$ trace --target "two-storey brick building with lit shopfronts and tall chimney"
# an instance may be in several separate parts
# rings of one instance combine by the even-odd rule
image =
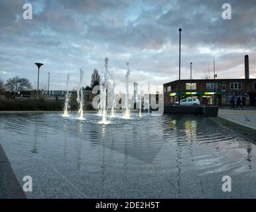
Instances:
[[[178,101],[178,80],[164,83],[164,103]],[[249,60],[245,56],[245,79],[181,79],[180,99],[197,97],[202,105],[229,105],[232,95],[243,105],[256,106],[256,79],[249,79]]]

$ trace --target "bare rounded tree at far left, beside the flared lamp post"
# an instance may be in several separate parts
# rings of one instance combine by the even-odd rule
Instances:
[[[13,97],[16,97],[22,90],[25,91],[32,88],[29,79],[19,78],[18,76],[8,79],[7,83],[5,83],[5,87],[11,91]]]

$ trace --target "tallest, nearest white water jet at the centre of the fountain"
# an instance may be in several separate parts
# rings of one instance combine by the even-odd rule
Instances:
[[[109,78],[109,71],[107,69],[109,58],[105,58],[105,72],[103,72],[103,83],[101,85],[101,111],[102,111],[102,120],[99,121],[99,124],[107,125],[110,122],[107,121],[107,82]]]

